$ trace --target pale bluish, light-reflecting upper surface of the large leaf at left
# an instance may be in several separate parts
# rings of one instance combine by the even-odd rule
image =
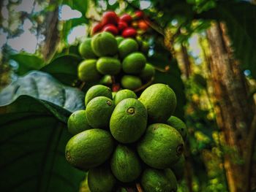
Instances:
[[[84,109],[84,93],[77,88],[62,85],[50,74],[30,72],[12,82],[0,93],[0,106],[10,104],[19,96],[28,95],[36,99],[50,101],[70,112]]]

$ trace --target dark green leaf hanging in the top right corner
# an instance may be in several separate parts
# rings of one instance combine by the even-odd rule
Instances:
[[[215,9],[199,17],[226,23],[236,57],[243,69],[249,69],[256,78],[256,6],[245,1],[221,1]]]

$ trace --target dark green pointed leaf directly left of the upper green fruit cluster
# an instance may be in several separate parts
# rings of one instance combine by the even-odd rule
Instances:
[[[61,55],[54,58],[53,61],[42,69],[42,72],[47,72],[55,77],[60,82],[66,85],[73,85],[78,80],[78,65],[82,59],[77,55]]]

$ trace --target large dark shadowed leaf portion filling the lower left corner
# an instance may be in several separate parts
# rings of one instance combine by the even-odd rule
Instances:
[[[0,191],[78,191],[84,173],[64,155],[69,115],[31,96],[0,107]]]

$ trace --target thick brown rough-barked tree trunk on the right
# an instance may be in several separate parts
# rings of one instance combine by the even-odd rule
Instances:
[[[250,191],[250,175],[246,170],[251,167],[248,167],[250,165],[246,159],[251,160],[248,158],[250,154],[247,149],[254,146],[249,146],[251,144],[248,142],[249,134],[255,129],[251,128],[254,103],[249,100],[246,80],[239,69],[238,61],[233,58],[225,25],[213,23],[207,31],[207,38],[211,50],[209,67],[214,88],[214,110],[223,137],[224,166],[229,190]],[[252,141],[253,138],[254,136]]]

